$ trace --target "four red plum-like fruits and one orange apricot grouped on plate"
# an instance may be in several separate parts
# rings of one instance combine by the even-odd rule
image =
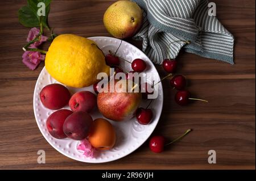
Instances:
[[[93,121],[89,115],[97,104],[96,95],[90,91],[76,92],[71,96],[69,90],[60,84],[48,85],[40,91],[40,100],[44,107],[53,112],[47,119],[47,130],[57,139],[71,138],[84,140],[97,149],[108,150],[115,144],[115,130],[105,119]],[[60,110],[66,105],[71,110]]]

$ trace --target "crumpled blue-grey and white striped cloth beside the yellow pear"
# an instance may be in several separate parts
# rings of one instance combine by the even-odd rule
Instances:
[[[133,1],[144,10],[143,26],[134,39],[143,40],[143,51],[155,64],[176,58],[181,48],[234,64],[234,37],[216,16],[208,15],[207,0]],[[191,44],[173,43],[178,40],[189,40]]]

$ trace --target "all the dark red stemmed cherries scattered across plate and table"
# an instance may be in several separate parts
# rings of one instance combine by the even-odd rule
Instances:
[[[189,43],[188,41],[185,41],[185,43]],[[121,47],[122,41],[118,47],[118,49]],[[123,73],[123,70],[119,67],[120,64],[120,60],[119,57],[116,56],[116,53],[118,52],[118,49],[115,53],[112,53],[111,51],[109,51],[110,53],[108,55],[106,55],[105,57],[105,61],[106,64],[109,66],[112,66],[115,69],[115,73]],[[125,60],[126,62],[129,62],[127,60]],[[133,71],[130,71],[129,73],[141,73],[144,70],[146,70],[147,68],[147,64],[144,60],[137,58],[135,59],[133,62],[129,62],[131,64],[131,68],[133,69]],[[163,69],[169,73],[166,77],[164,77],[163,79],[161,79],[159,82],[163,81],[164,79],[172,76],[176,69],[177,69],[177,61],[176,60],[170,60],[170,59],[166,59],[163,61]],[[126,73],[126,79],[132,79],[130,77],[130,74]],[[133,79],[134,81],[134,79]],[[159,83],[158,82],[158,83]],[[171,78],[170,84],[172,87],[174,87],[174,89],[177,90],[176,94],[175,94],[175,101],[177,104],[181,105],[181,106],[186,106],[189,103],[189,100],[200,100],[200,101],[204,101],[207,102],[207,100],[203,100],[203,99],[195,99],[195,98],[191,98],[191,93],[185,89],[186,86],[186,79],[183,75],[175,75],[174,77]],[[152,92],[149,92],[147,89],[148,87],[152,87],[154,88],[154,85],[148,85],[148,83],[144,83],[143,86],[141,86],[142,89],[142,97],[144,99],[147,98],[147,95],[152,94]],[[98,93],[98,85],[97,83],[93,85],[93,89],[96,93]],[[150,108],[148,108],[150,106],[151,102],[148,104],[148,106],[146,108],[138,108],[138,110],[136,111],[136,118],[138,120],[138,122],[140,124],[143,125],[147,125],[151,122],[152,117],[153,117],[153,113],[152,110]],[[163,151],[164,146],[167,145],[171,145],[174,142],[180,140],[181,138],[183,138],[184,136],[186,136],[189,132],[191,132],[192,129],[188,129],[188,131],[186,131],[182,136],[176,138],[174,141],[166,144],[166,138],[164,138],[163,136],[153,136],[150,139],[150,149],[152,151],[154,151],[155,153],[160,153]]]

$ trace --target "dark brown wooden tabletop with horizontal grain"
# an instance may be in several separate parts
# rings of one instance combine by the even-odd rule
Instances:
[[[110,36],[102,15],[114,1],[54,0],[49,24],[55,32],[80,36]],[[89,164],[57,152],[36,125],[32,98],[35,71],[22,64],[28,28],[18,22],[17,11],[26,1],[0,2],[0,169],[255,169],[255,1],[214,0],[217,16],[236,37],[236,65],[181,52],[179,73],[189,79],[193,95],[209,100],[177,106],[175,90],[163,82],[164,107],[154,134],[175,138],[193,132],[161,154],[143,144],[118,161]],[[134,43],[134,41],[132,42]],[[156,66],[164,76],[162,66]],[[46,164],[37,163],[37,151],[46,151]],[[208,163],[208,150],[216,150],[217,163]]]

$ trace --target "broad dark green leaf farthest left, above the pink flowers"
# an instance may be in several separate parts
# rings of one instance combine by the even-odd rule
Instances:
[[[40,26],[38,17],[28,6],[23,6],[18,11],[19,22],[28,28]]]

